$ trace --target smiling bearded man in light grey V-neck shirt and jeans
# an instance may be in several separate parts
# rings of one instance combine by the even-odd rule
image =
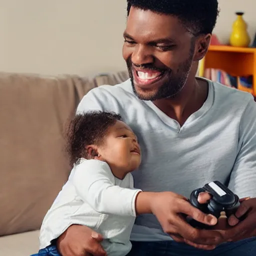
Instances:
[[[195,78],[217,0],[127,0],[127,11],[123,57],[130,79],[92,89],[77,112],[120,113],[142,148],[135,187],[171,191],[154,200],[153,214],[137,216],[128,255],[255,255],[256,105],[248,93]],[[186,199],[212,180],[250,198],[228,225],[199,230],[181,213],[216,223]],[[57,239],[62,256],[105,255],[100,234],[75,224]]]

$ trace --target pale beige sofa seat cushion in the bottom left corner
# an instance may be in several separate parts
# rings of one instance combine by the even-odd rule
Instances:
[[[38,252],[39,230],[0,237],[1,256],[29,256]]]

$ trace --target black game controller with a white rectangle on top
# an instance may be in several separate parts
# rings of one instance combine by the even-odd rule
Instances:
[[[197,201],[200,192],[208,192],[211,195],[211,199],[207,203],[200,204]],[[193,190],[190,194],[190,203],[202,212],[212,214],[216,218],[220,216],[221,211],[225,211],[226,216],[229,217],[240,205],[238,196],[217,180],[205,184],[202,188]],[[190,225],[197,228],[207,229],[209,227],[192,218],[187,220]]]

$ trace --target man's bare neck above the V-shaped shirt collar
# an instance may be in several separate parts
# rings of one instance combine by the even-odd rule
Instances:
[[[187,81],[175,98],[158,99],[153,103],[182,126],[186,119],[202,106],[207,95],[207,82],[193,78],[192,81]]]

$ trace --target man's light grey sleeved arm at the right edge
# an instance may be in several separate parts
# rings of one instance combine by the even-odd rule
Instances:
[[[229,188],[242,197],[256,197],[256,103],[251,99],[241,118],[238,154]]]

